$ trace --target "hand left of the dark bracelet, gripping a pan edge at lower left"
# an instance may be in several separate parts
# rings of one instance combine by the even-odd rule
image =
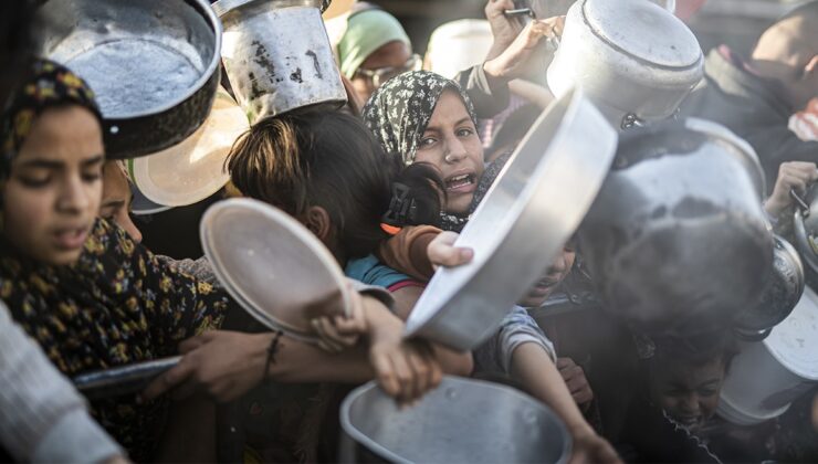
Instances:
[[[179,345],[178,365],[148,384],[141,397],[153,400],[172,390],[175,399],[204,391],[217,401],[232,401],[264,379],[273,334],[213,330]]]

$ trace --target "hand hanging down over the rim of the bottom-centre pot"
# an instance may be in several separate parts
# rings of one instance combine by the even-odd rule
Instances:
[[[367,307],[369,362],[380,388],[400,403],[410,403],[437,387],[443,371],[422,340],[405,340],[403,323],[386,307]]]

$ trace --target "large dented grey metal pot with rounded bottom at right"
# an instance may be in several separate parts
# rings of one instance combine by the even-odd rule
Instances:
[[[773,240],[753,149],[701,119],[620,136],[579,230],[606,309],[647,333],[692,336],[757,304]]]

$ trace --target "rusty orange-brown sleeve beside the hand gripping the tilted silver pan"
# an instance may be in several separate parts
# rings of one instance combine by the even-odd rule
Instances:
[[[441,232],[431,225],[411,225],[400,230],[396,235],[380,244],[378,257],[395,271],[428,282],[434,270],[429,262],[427,249]]]

